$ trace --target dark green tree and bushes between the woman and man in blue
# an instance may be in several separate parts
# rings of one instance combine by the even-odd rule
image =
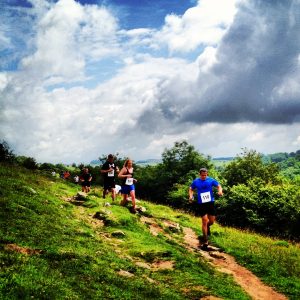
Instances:
[[[209,157],[204,157],[186,141],[175,142],[162,154],[162,163],[137,171],[137,193],[151,201],[185,207],[188,185],[199,174],[200,167],[213,168]]]

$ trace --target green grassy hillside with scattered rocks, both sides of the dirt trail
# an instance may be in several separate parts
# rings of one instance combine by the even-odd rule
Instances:
[[[184,245],[199,218],[141,201],[130,214],[93,188],[0,165],[0,299],[249,299],[233,277]],[[158,231],[151,233],[151,222]],[[154,226],[154,225],[153,225]],[[268,285],[300,298],[300,249],[215,225],[212,242]]]

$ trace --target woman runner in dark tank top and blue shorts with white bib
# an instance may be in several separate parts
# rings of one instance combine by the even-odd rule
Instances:
[[[127,159],[125,161],[124,166],[120,171],[118,177],[122,179],[121,194],[123,195],[123,199],[121,201],[121,205],[125,206],[128,203],[128,195],[130,195],[132,201],[131,212],[135,214],[136,206],[134,183],[137,182],[137,180],[133,178],[133,167],[131,159]]]

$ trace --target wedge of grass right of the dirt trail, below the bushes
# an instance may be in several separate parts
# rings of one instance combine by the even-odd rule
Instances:
[[[299,244],[220,226],[213,240],[266,284],[300,299]]]

